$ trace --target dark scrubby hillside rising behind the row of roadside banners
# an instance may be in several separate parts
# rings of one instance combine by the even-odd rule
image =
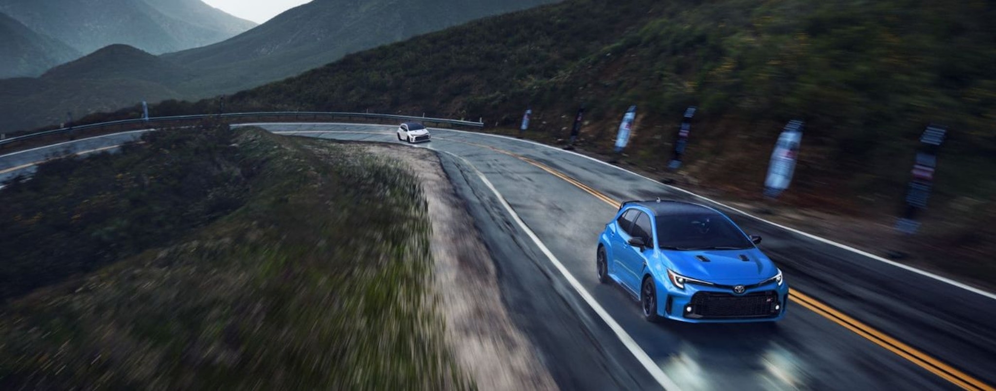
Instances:
[[[663,167],[683,108],[697,104],[686,173],[758,192],[792,118],[807,120],[799,191],[811,204],[897,206],[919,133],[951,126],[938,190],[991,199],[996,40],[989,3],[576,0],[356,54],[240,93],[235,108],[483,116],[566,135],[589,107],[585,147],[606,151],[640,107],[630,161]],[[790,194],[789,197],[792,197]]]

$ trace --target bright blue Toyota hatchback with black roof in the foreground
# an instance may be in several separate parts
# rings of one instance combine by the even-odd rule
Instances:
[[[599,238],[599,281],[632,293],[649,321],[773,321],[782,271],[726,215],[678,201],[629,201]]]

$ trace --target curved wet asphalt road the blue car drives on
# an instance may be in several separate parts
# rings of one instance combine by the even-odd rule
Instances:
[[[258,125],[287,135],[398,142],[388,125]],[[996,384],[992,293],[573,152],[489,134],[432,131],[433,140],[416,147],[438,151],[499,264],[505,301],[564,389],[992,390]],[[58,148],[86,152],[137,134]],[[0,156],[0,180],[30,170],[51,150]],[[793,288],[787,317],[776,327],[650,324],[627,293],[600,285],[594,245],[618,202],[655,197],[716,206],[763,236],[762,250]],[[572,327],[583,328],[587,340],[577,339]],[[594,357],[592,350],[608,358]]]

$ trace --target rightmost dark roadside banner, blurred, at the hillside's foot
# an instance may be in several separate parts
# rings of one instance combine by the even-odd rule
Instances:
[[[915,234],[920,228],[917,214],[927,209],[927,199],[933,188],[934,170],[937,168],[937,151],[947,135],[947,127],[931,124],[920,136],[920,150],[916,153],[912,179],[906,190],[906,205],[902,217],[895,223],[895,229],[904,234]]]

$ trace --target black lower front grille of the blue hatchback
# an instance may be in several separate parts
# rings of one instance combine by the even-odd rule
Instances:
[[[699,292],[691,296],[688,318],[769,317],[781,311],[781,302],[775,291],[745,294]]]

